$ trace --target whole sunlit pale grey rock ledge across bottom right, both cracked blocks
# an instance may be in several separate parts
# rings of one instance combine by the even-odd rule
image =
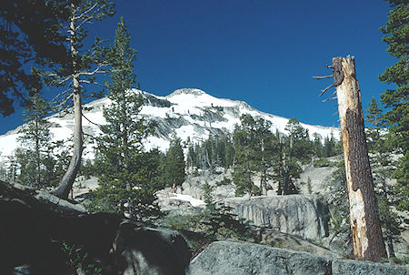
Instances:
[[[408,275],[409,268],[334,260],[245,242],[217,241],[195,257],[187,275]]]

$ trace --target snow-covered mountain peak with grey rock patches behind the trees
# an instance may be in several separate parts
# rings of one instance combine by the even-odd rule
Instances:
[[[240,123],[240,116],[250,114],[254,117],[264,117],[273,124],[273,130],[285,132],[284,127],[288,118],[277,117],[258,111],[243,101],[212,97],[204,91],[195,88],[175,90],[166,97],[157,97],[140,90],[134,90],[145,98],[140,116],[146,121],[156,124],[155,135],[145,140],[145,148],[159,148],[165,150],[169,147],[169,140],[175,134],[178,138],[193,142],[201,142],[209,135],[233,132],[234,125]],[[93,137],[100,134],[98,125],[105,123],[103,107],[109,106],[110,99],[105,97],[85,105],[83,127],[85,136]],[[73,133],[74,117],[72,114],[55,114],[48,118],[52,123],[51,132],[55,140],[69,139]],[[339,128],[312,126],[302,123],[309,130],[310,135],[320,134],[323,138],[330,136],[339,137]],[[12,154],[18,147],[16,138],[20,135],[17,127],[15,130],[0,136],[1,158]],[[93,145],[85,142],[85,158],[93,158]]]

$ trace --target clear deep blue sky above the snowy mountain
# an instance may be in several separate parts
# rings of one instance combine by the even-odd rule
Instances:
[[[388,85],[378,80],[394,57],[379,27],[391,9],[382,0],[117,0],[116,15],[90,36],[113,39],[119,16],[138,51],[141,89],[165,96],[196,87],[214,97],[314,125],[338,127],[336,101],[320,90],[333,79],[334,56],[355,56],[364,108]],[[45,90],[45,93],[47,91]],[[328,93],[327,94],[331,94]],[[21,109],[0,117],[0,134],[22,124]]]

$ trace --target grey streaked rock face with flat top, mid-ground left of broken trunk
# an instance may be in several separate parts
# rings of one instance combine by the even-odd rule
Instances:
[[[238,218],[249,220],[258,227],[304,239],[328,236],[328,207],[315,196],[242,197],[224,199],[224,202]]]

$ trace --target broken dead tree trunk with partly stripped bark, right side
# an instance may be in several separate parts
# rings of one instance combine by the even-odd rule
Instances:
[[[333,58],[333,69],[344,146],[354,255],[358,259],[379,260],[386,257],[386,250],[374,197],[354,57]]]

